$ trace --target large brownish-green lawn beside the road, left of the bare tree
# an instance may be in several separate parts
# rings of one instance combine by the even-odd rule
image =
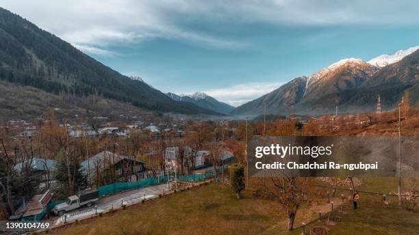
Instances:
[[[227,186],[210,184],[162,197],[58,234],[259,234],[284,220],[277,202],[243,199]]]

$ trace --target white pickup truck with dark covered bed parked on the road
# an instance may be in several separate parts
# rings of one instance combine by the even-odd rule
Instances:
[[[93,202],[99,199],[99,191],[97,189],[91,189],[83,191],[78,195],[70,196],[66,199],[66,202],[54,206],[53,212],[55,215],[64,215],[65,212],[75,210],[81,206],[90,207]]]

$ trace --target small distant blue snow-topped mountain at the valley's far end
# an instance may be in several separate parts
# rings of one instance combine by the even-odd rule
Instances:
[[[195,92],[191,95],[177,95],[169,92],[166,94],[166,96],[178,102],[192,102],[193,104],[198,105],[199,107],[210,109],[218,113],[227,114],[234,109],[234,107],[232,107],[231,105],[228,105],[225,102],[220,102],[203,92]]]

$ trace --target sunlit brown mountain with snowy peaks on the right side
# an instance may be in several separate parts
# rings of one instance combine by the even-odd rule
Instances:
[[[366,62],[342,59],[309,77],[285,85],[231,111],[231,115],[266,113],[320,115],[374,111],[381,96],[383,109],[394,109],[405,91],[419,100],[419,46]]]

